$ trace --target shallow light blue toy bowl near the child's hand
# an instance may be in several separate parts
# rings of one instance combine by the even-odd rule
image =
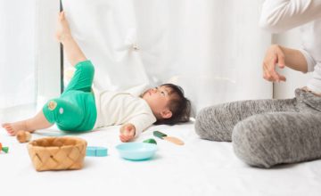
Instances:
[[[121,143],[116,146],[120,157],[130,160],[151,159],[157,151],[153,143]]]

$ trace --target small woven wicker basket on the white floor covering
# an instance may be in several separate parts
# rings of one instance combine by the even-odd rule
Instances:
[[[86,141],[77,137],[46,137],[28,144],[37,171],[80,169],[86,155]]]

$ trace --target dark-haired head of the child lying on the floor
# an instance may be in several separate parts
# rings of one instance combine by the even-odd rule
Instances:
[[[191,102],[185,98],[180,86],[164,84],[151,88],[142,94],[142,98],[157,118],[156,124],[174,125],[189,120]]]

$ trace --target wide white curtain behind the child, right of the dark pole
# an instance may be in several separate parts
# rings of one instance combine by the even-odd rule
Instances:
[[[65,0],[63,7],[74,37],[95,63],[96,87],[172,81],[200,110],[272,97],[272,84],[261,77],[271,43],[258,26],[261,2]]]

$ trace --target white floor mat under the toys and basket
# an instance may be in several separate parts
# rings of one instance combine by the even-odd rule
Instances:
[[[185,141],[178,146],[152,136],[153,130]],[[62,135],[38,131],[33,139]],[[235,157],[231,143],[199,139],[193,124],[151,127],[136,142],[155,138],[159,151],[151,160],[119,158],[119,127],[82,135],[88,145],[106,146],[107,157],[86,157],[85,167],[73,171],[37,172],[26,143],[0,130],[0,195],[321,195],[321,160],[260,169]]]

